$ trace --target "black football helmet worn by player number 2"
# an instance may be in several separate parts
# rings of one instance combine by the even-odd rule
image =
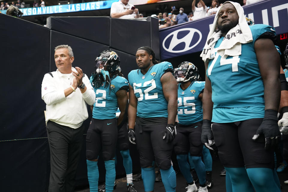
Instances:
[[[120,65],[120,58],[116,52],[112,50],[105,50],[95,60],[95,69],[103,68],[109,72],[118,70]]]

